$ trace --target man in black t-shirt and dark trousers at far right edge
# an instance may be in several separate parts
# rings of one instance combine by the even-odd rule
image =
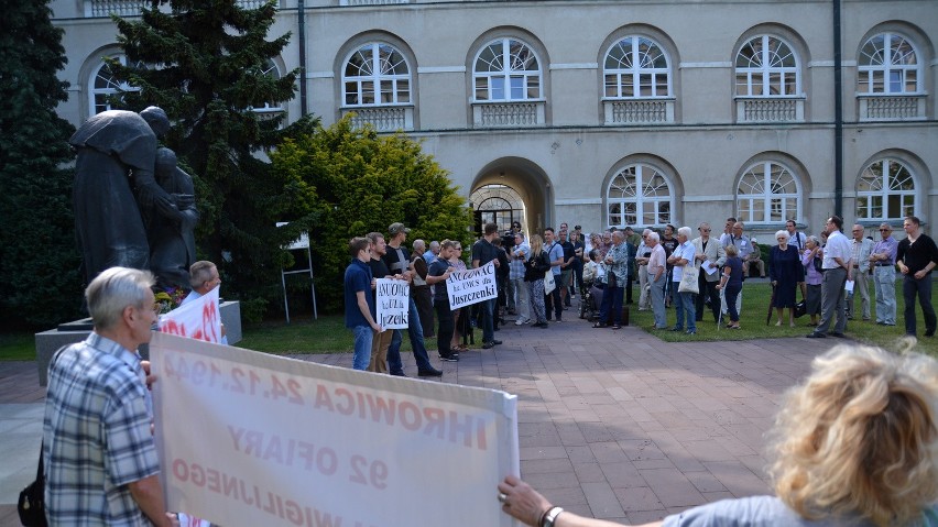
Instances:
[[[915,297],[925,317],[925,336],[935,336],[935,306],[931,305],[931,270],[938,265],[935,240],[921,233],[921,221],[908,216],[903,221],[907,238],[898,243],[896,265],[905,276],[902,285],[905,298],[905,332],[915,337]]]

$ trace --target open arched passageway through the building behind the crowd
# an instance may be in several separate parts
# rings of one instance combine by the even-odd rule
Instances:
[[[479,172],[469,201],[477,231],[493,221],[504,232],[517,221],[530,233],[550,224],[553,197],[550,180],[539,166],[521,157],[502,157]]]

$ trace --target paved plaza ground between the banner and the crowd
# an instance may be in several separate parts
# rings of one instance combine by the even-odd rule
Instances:
[[[510,323],[497,333],[504,344],[443,363],[443,382],[517,394],[524,479],[569,510],[632,524],[768,492],[762,435],[779,394],[837,343],[668,343],[570,318],[546,330]],[[405,364],[415,375],[413,358]],[[43,399],[35,363],[0,363],[0,526],[19,525],[11,504],[35,476]]]

